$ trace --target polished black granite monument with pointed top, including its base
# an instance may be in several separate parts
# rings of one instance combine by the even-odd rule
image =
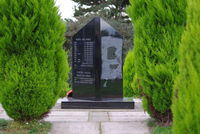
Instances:
[[[123,99],[121,35],[95,17],[72,38],[73,98],[62,108],[134,108]]]

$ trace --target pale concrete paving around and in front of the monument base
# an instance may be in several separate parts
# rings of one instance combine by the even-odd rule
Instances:
[[[134,101],[135,109],[61,109],[58,100],[44,120],[53,123],[49,134],[150,134],[150,117]],[[0,118],[10,119],[1,106]]]

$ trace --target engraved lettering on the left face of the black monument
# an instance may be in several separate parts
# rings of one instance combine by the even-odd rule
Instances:
[[[73,81],[76,84],[94,84],[94,41],[90,38],[76,38],[73,42]]]

